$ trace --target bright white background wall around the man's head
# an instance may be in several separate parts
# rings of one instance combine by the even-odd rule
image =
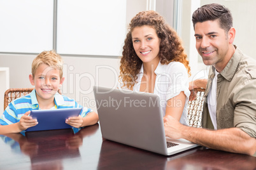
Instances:
[[[256,46],[256,1],[254,0],[183,0],[181,13],[181,39],[188,54],[192,76],[190,80],[207,77],[209,66],[204,65],[201,56],[196,51],[196,39],[192,28],[192,13],[204,4],[223,4],[231,10],[233,27],[236,29],[234,44],[246,55],[254,55],[253,48]],[[188,31],[190,30],[190,31]]]

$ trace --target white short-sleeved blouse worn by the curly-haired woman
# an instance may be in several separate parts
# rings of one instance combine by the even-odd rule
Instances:
[[[155,88],[153,94],[159,95],[160,107],[162,110],[163,117],[166,114],[167,100],[175,96],[178,96],[181,91],[184,91],[186,95],[186,101],[185,106],[183,108],[183,113],[180,118],[180,123],[188,126],[187,103],[190,91],[188,89],[187,69],[185,68],[183,63],[180,62],[171,62],[167,65],[162,65],[159,62],[159,65],[157,65],[157,69],[155,69],[155,74],[157,75],[157,77],[155,79]],[[134,91],[139,91],[142,77],[143,64],[138,74],[138,79],[136,79],[137,83],[134,84]],[[179,105],[178,101],[174,104]]]

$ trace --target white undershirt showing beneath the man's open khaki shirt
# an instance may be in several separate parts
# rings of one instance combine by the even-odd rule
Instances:
[[[216,108],[217,108],[217,79],[218,79],[217,70],[215,69],[215,77],[213,78],[213,82],[211,84],[210,91],[208,93],[208,108],[209,108],[209,114],[211,117],[211,122],[213,123],[213,127],[215,130],[217,130],[217,119],[216,119]]]

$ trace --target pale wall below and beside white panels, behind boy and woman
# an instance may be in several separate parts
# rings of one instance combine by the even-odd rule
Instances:
[[[139,11],[146,10],[146,0],[128,0],[126,23]],[[110,35],[111,37],[111,35]],[[107,44],[107,43],[106,43]],[[32,88],[29,82],[32,60],[36,55],[0,53],[0,67],[10,68],[10,88]],[[92,86],[115,86],[118,80],[120,58],[117,56],[62,56],[65,81],[63,95],[75,98],[85,107],[96,110]],[[1,83],[1,82],[0,82]],[[4,97],[4,94],[0,94]],[[3,103],[0,103],[3,105]],[[2,113],[2,110],[0,110]]]

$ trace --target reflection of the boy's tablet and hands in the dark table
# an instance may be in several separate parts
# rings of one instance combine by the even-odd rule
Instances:
[[[74,135],[73,129],[26,132],[25,138],[27,140],[20,143],[20,149],[30,156],[31,164],[80,157],[78,147],[83,143],[80,136]]]

